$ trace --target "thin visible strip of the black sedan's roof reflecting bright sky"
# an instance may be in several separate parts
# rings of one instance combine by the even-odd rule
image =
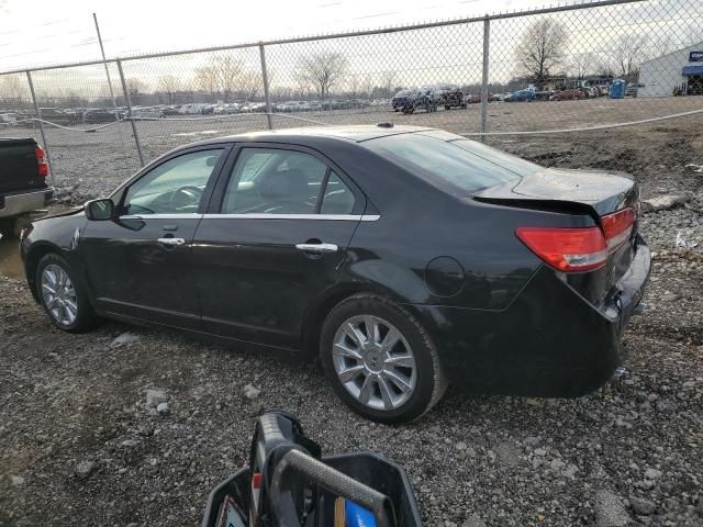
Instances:
[[[261,143],[292,143],[305,144],[308,142],[327,138],[352,143],[376,139],[389,135],[412,134],[415,132],[427,132],[435,128],[425,126],[378,126],[371,124],[346,125],[346,126],[310,126],[304,128],[282,128],[274,131],[252,132],[247,134],[228,135],[198,142],[198,145],[208,145],[231,142],[261,142]]]

